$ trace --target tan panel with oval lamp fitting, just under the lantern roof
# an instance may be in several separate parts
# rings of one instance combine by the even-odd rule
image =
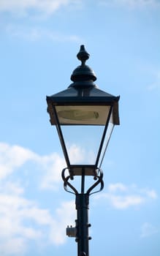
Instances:
[[[110,106],[56,106],[60,124],[105,125]]]

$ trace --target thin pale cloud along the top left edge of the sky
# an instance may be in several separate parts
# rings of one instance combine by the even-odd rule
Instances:
[[[1,0],[0,12],[27,15],[30,11],[50,15],[61,7],[80,5],[80,0]]]

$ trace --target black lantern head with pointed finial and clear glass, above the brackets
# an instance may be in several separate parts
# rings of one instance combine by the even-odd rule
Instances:
[[[119,97],[98,89],[98,86],[94,83],[96,80],[94,71],[85,64],[85,61],[89,59],[89,54],[84,45],[80,46],[77,59],[81,61],[81,64],[72,72],[71,80],[73,83],[66,90],[50,97],[47,96],[47,112],[50,114],[50,123],[56,125],[58,130],[69,170],[72,170],[75,173],[74,175],[80,175],[77,173],[81,173],[80,170],[85,168],[87,175],[94,175],[96,168],[102,164],[113,127],[119,124]],[[102,129],[100,138],[99,127]],[[68,129],[70,134],[65,132],[65,129]],[[76,129],[77,132],[75,132]],[[88,137],[85,137],[86,131],[89,133]],[[69,135],[70,138],[66,139],[66,135]],[[75,141],[73,140],[74,135]],[[89,140],[91,135],[92,138]],[[77,138],[80,139],[80,145],[76,142]],[[91,160],[93,162],[89,165],[87,162],[77,164],[73,161],[72,163],[73,152],[70,152],[69,147],[72,145],[81,147],[83,140],[88,140],[88,146],[92,147],[96,138],[99,138],[99,142],[96,143],[97,148],[94,153],[96,156]],[[85,141],[83,146],[86,146]],[[87,151],[89,150],[88,146]],[[88,169],[86,166],[89,166]]]

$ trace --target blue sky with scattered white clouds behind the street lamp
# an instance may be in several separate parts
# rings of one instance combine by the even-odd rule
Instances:
[[[0,1],[1,255],[77,255],[45,98],[69,86],[85,45],[99,89],[121,96],[104,189],[90,197],[90,255],[159,256],[159,13],[159,0]]]

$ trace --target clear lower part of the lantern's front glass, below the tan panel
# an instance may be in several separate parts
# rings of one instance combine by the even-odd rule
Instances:
[[[71,165],[95,165],[104,126],[61,126]]]

